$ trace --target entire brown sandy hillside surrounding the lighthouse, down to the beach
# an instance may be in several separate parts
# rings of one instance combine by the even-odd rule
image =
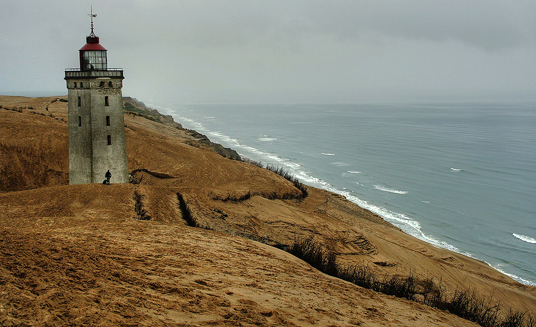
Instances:
[[[252,241],[284,246],[311,235],[340,263],[411,271],[536,314],[534,287],[416,240],[339,195],[309,187],[303,200],[282,199],[301,191],[143,115],[125,114],[129,169],[145,170],[135,173],[142,184],[66,185],[67,104],[55,99],[0,96],[4,324],[472,325]],[[151,220],[134,219],[135,191]],[[213,231],[185,225],[177,193]]]

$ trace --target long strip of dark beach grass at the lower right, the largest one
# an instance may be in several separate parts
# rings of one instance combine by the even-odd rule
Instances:
[[[483,327],[536,327],[536,317],[512,311],[511,308],[506,314],[502,314],[500,303],[496,303],[491,297],[486,300],[475,291],[456,291],[449,297],[445,295],[441,285],[434,287],[431,278],[421,283],[411,273],[407,277],[395,274],[380,278],[368,265],[341,266],[333,252],[324,250],[314,242],[312,236],[304,240],[294,240],[294,244],[286,251],[330,276],[376,292],[446,310]]]

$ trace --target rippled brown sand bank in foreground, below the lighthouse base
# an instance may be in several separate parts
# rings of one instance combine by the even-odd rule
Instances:
[[[94,184],[0,195],[2,212],[13,213],[0,222],[0,323],[473,325],[331,278],[261,243],[132,219],[135,189]]]

